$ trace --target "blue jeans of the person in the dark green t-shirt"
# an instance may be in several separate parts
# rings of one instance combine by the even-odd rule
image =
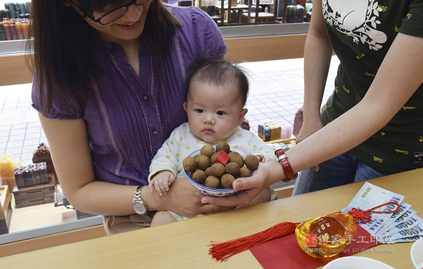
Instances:
[[[385,176],[345,152],[319,164],[319,171],[308,168],[299,173],[292,196]]]

